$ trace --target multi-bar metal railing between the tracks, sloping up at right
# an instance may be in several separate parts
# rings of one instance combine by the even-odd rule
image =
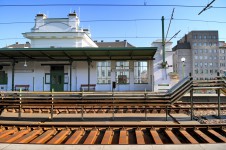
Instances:
[[[208,84],[209,83],[209,84]],[[23,104],[32,105],[42,103],[48,105],[51,98],[54,98],[54,104],[101,104],[111,105],[112,98],[115,104],[139,104],[139,105],[171,105],[179,100],[184,94],[194,88],[211,88],[226,89],[226,80],[216,78],[216,80],[194,81],[191,76],[187,76],[172,86],[166,93],[156,92],[3,92],[0,91],[1,102],[7,105],[18,105],[19,99],[22,99]],[[80,100],[83,99],[81,102]],[[3,105],[3,103],[1,104]]]

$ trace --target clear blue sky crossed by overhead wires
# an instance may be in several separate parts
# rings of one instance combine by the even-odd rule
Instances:
[[[191,30],[218,30],[219,40],[226,40],[226,8],[211,8],[201,15],[200,7],[150,7],[148,5],[191,5],[206,6],[212,0],[0,0],[0,47],[29,41],[23,38],[23,32],[29,32],[37,13],[45,13],[49,18],[66,18],[70,11],[79,13],[80,26],[90,28],[93,40],[115,41],[128,40],[138,47],[150,46],[151,42],[161,38],[161,17],[171,17],[173,8],[174,20],[172,20],[168,37],[172,37],[181,30],[176,41]],[[2,5],[32,5],[32,4],[122,4],[146,6],[34,6],[34,7],[2,7]],[[226,0],[216,0],[214,7],[226,7]],[[137,20],[136,20],[137,19]],[[159,19],[159,20],[139,20]],[[213,22],[181,21],[177,19],[192,19]],[[134,21],[92,21],[92,20],[134,20]],[[136,20],[136,21],[135,21]],[[90,21],[90,22],[86,22]],[[3,24],[12,23],[12,24]],[[169,20],[165,21],[165,33]],[[144,37],[144,38],[142,38]],[[16,38],[16,39],[15,39]]]

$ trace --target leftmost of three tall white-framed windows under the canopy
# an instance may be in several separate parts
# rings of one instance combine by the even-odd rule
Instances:
[[[97,83],[98,84],[111,83],[111,62],[110,61],[97,62]]]

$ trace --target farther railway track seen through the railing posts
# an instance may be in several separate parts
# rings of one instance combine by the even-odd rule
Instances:
[[[216,115],[218,106],[216,103],[195,103],[194,104],[194,115]],[[50,113],[51,106],[23,106],[21,108],[22,113]],[[83,113],[165,113],[165,107],[160,106],[55,106],[53,108],[54,114],[65,113],[65,114],[81,114]],[[176,103],[169,107],[169,113],[190,113],[189,103]],[[19,112],[19,108],[16,106],[7,106],[3,109],[3,112]],[[226,114],[226,104],[221,104],[221,114]]]

